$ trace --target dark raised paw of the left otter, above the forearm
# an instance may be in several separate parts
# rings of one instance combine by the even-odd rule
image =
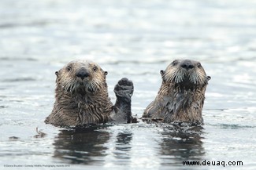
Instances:
[[[113,91],[116,93],[117,97],[119,96],[131,99],[133,94],[133,83],[132,81],[129,81],[128,78],[122,78],[117,82]]]

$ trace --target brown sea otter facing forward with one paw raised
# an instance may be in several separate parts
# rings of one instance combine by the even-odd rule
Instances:
[[[106,71],[88,60],[71,61],[56,71],[55,103],[45,122],[61,127],[130,123],[133,83],[122,78],[115,86],[115,105],[111,103]]]

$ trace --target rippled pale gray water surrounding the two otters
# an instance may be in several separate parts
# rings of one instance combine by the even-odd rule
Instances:
[[[1,0],[0,169],[255,169],[255,44],[254,0]],[[113,102],[117,81],[132,79],[140,118],[159,71],[179,58],[201,61],[212,77],[199,129],[139,122],[71,131],[43,122],[54,72],[70,60],[108,71]]]

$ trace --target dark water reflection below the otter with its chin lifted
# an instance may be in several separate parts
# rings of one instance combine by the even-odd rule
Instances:
[[[161,157],[163,165],[182,165],[182,161],[200,161],[205,154],[202,147],[202,127],[165,127],[162,132]]]

